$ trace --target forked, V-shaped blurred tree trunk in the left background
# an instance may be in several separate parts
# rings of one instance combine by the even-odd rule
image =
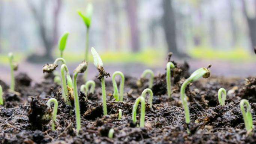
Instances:
[[[48,0],[40,0],[39,6],[36,6],[33,4],[31,0],[27,0],[28,6],[34,16],[35,21],[37,22],[38,29],[39,29],[39,37],[42,41],[42,44],[45,48],[45,54],[42,56],[42,59],[40,59],[36,55],[30,56],[30,61],[43,61],[46,60],[52,60],[52,49],[58,42],[58,18],[59,13],[61,9],[61,0],[53,0],[51,1],[54,6],[54,9],[52,10],[52,17],[51,21],[52,24],[50,25],[50,28],[48,28],[48,25],[46,21],[46,10],[49,10],[46,7],[46,4],[48,3]]]

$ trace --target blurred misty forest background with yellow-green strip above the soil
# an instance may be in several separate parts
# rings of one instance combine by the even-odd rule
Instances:
[[[40,81],[42,65],[60,56],[65,31],[64,58],[72,71],[85,51],[86,27],[76,10],[85,13],[89,2],[89,46],[110,73],[163,73],[173,52],[172,59],[187,61],[191,70],[212,64],[213,75],[255,74],[256,0],[0,0],[0,79],[10,80],[7,54],[13,52],[18,71]],[[97,73],[90,64],[89,77]]]

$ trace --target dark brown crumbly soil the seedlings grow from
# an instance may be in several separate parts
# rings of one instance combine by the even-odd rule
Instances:
[[[0,106],[1,144],[247,144],[256,143],[256,129],[247,133],[240,111],[241,99],[248,99],[256,123],[256,77],[226,78],[210,76],[190,83],[186,88],[191,123],[186,125],[185,114],[180,102],[180,87],[189,77],[189,65],[173,62],[171,70],[172,96],[167,96],[166,74],[155,76],[152,87],[153,106],[146,104],[144,128],[132,123],[132,106],[148,80],[125,76],[124,102],[113,98],[110,78],[106,78],[107,111],[103,116],[101,83],[95,77],[93,94],[79,91],[81,130],[76,134],[74,104],[66,105],[61,96],[61,86],[53,82],[52,74],[45,74],[42,83],[34,83],[27,74],[15,78],[15,92],[0,80],[4,91],[4,105]],[[77,87],[82,85],[82,74],[77,78]],[[118,82],[119,85],[119,82]],[[220,106],[217,98],[219,88],[227,91],[227,100]],[[47,107],[49,98],[58,100],[56,131],[51,130],[52,108]],[[147,100],[148,96],[146,96]],[[53,106],[53,105],[52,105]],[[118,119],[118,110],[122,118]],[[113,138],[108,138],[113,128]],[[188,134],[187,129],[191,132]]]

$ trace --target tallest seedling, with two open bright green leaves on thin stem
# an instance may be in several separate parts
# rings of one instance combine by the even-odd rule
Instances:
[[[93,6],[91,3],[89,3],[86,7],[86,13],[85,15],[82,14],[80,10],[77,10],[77,13],[81,16],[83,19],[83,22],[85,23],[86,26],[86,40],[85,40],[85,61],[89,61],[89,28],[91,25],[91,19],[92,19],[92,12],[93,12]],[[87,71],[85,71],[84,79],[87,79]]]

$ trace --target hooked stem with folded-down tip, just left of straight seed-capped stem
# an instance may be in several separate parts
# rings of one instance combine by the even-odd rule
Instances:
[[[71,105],[70,99],[68,98],[68,89],[67,89],[67,83],[65,79],[65,72],[66,72],[66,78],[67,83],[70,88],[73,88],[72,79],[70,77],[67,65],[63,64],[61,65],[61,82],[62,82],[62,88],[64,95],[62,95],[65,102],[67,102],[68,105]]]

